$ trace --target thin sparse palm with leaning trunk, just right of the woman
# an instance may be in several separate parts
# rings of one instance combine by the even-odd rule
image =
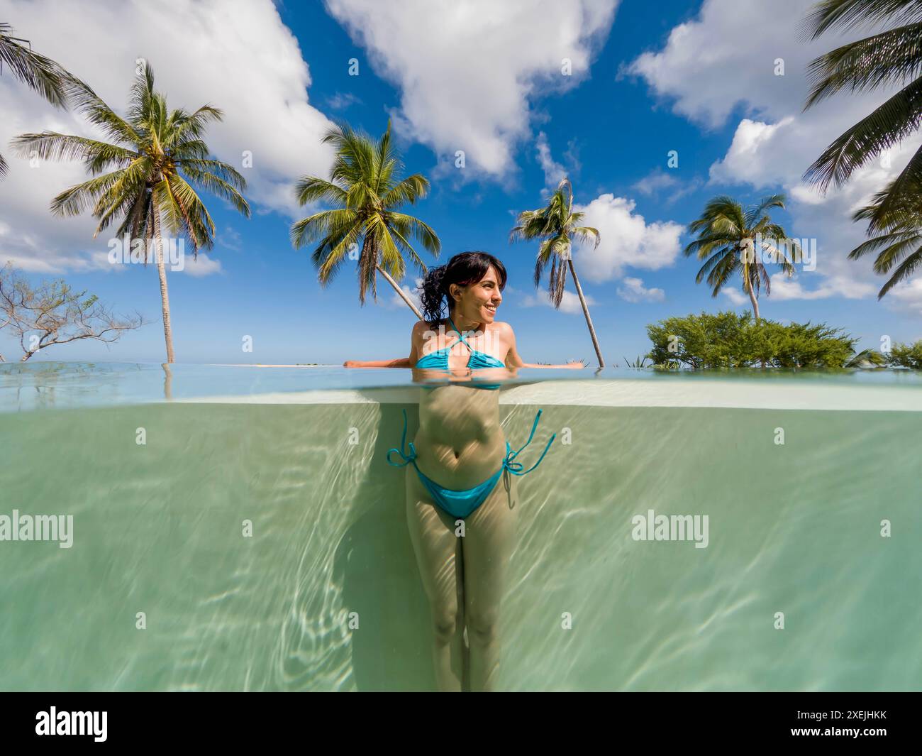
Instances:
[[[509,243],[512,244],[516,240],[541,240],[538,246],[538,258],[535,260],[535,288],[540,285],[544,269],[550,264],[548,293],[550,302],[556,309],[560,309],[563,290],[567,282],[567,267],[570,269],[576,294],[583,306],[585,322],[589,327],[589,336],[592,338],[592,345],[596,348],[598,366],[605,367],[602,350],[598,346],[596,329],[592,325],[592,318],[589,317],[589,307],[585,304],[583,287],[579,285],[579,277],[573,267],[573,256],[570,254],[573,239],[582,242],[588,242],[590,238],[595,239],[596,247],[601,241],[597,229],[580,225],[584,215],[585,213],[582,212],[573,212],[573,185],[569,178],[564,178],[550,196],[547,206],[539,210],[524,210],[519,213],[515,221],[516,225],[509,232]],[[567,267],[564,267],[564,261]]]

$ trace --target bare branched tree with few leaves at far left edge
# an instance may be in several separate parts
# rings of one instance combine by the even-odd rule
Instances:
[[[116,342],[124,331],[142,325],[140,315],[116,317],[96,294],[78,292],[63,279],[33,288],[12,263],[0,268],[0,328],[10,329],[18,338],[21,362],[53,344],[80,339]]]

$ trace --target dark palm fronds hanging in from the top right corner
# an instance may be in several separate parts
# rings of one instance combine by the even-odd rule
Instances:
[[[804,176],[822,191],[831,182],[844,184],[858,167],[900,143],[919,126],[922,7],[914,0],[823,0],[806,20],[814,40],[833,28],[851,30],[887,21],[904,25],[848,42],[810,63],[808,78],[813,86],[804,110],[843,89],[865,91],[906,85],[835,139],[810,165]],[[875,217],[880,219],[890,212],[892,203],[913,186],[922,186],[922,148],[876,203]]]

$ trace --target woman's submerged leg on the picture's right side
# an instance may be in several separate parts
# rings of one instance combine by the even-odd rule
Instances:
[[[466,521],[464,594],[470,690],[493,690],[499,675],[497,623],[506,587],[506,567],[514,548],[517,484],[517,476],[503,473],[490,496]]]

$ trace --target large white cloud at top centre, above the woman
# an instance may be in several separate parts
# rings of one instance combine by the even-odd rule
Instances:
[[[326,0],[368,51],[376,73],[400,89],[400,130],[435,150],[461,178],[500,177],[526,138],[532,101],[589,74],[617,0]],[[571,75],[564,75],[564,61]],[[360,72],[361,75],[361,72]]]

